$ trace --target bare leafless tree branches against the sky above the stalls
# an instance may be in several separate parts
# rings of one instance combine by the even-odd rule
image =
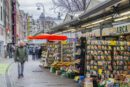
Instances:
[[[54,4],[53,9],[59,9],[60,11],[77,12],[85,11],[91,0],[52,0]]]

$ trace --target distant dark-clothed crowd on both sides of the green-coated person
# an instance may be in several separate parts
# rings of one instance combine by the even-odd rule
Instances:
[[[7,45],[4,46],[4,54],[5,54],[5,58],[14,58],[15,56],[15,50],[16,47],[18,47],[18,44],[14,45],[12,43],[8,43]],[[27,49],[27,53],[28,55],[32,55],[32,59],[33,60],[37,60],[41,58],[41,54],[42,54],[42,46],[38,46],[38,45],[33,45],[33,46],[29,46],[29,44],[25,44],[25,47]]]

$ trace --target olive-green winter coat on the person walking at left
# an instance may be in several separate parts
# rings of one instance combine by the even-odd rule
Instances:
[[[27,60],[28,60],[28,54],[26,47],[17,47],[15,51],[15,61],[23,63]]]

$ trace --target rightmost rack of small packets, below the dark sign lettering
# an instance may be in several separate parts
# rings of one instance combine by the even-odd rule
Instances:
[[[114,46],[113,73],[114,74],[130,74],[130,43],[117,42]]]

